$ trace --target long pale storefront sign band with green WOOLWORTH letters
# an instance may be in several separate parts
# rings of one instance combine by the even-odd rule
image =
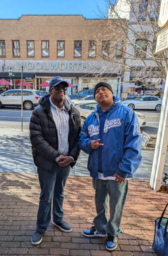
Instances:
[[[0,60],[0,67],[4,61]],[[21,66],[26,73],[100,73],[101,70],[107,74],[117,73],[120,70],[119,65],[115,63],[109,65],[108,61],[49,61],[49,60],[5,60],[5,66],[11,67],[12,71],[21,72]],[[107,68],[105,68],[107,67]],[[8,69],[9,69],[8,68]],[[27,76],[29,77],[29,76]],[[28,78],[26,78],[28,79]]]

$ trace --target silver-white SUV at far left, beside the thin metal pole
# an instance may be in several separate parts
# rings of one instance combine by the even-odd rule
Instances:
[[[41,98],[38,90],[23,89],[23,106],[25,109],[30,110],[38,106],[38,101]],[[22,90],[8,90],[0,94],[0,108],[6,106],[18,106],[22,104]]]

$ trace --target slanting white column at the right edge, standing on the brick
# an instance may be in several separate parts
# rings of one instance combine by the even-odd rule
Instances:
[[[151,172],[150,186],[154,190],[159,190],[163,175],[166,151],[168,144],[168,72],[165,83],[164,96],[162,100],[162,110],[156,141],[155,154]]]

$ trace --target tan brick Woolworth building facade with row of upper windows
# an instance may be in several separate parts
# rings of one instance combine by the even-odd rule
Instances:
[[[117,38],[109,41],[105,26],[104,20],[85,19],[82,15],[0,19],[0,78],[9,79],[11,67],[15,87],[23,64],[24,79],[34,88],[57,75],[81,85],[76,88],[93,88],[97,81],[93,74],[101,73],[106,66],[104,57],[122,58],[116,55]],[[114,87],[118,70],[121,72],[121,67],[115,65],[103,72]]]

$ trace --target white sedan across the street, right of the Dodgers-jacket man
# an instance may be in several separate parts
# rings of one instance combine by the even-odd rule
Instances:
[[[160,111],[162,99],[156,96],[139,96],[134,100],[123,100],[123,104],[132,109],[155,109]]]

